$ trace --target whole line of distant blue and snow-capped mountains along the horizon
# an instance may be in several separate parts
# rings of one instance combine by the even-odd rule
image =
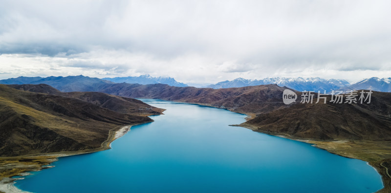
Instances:
[[[177,82],[171,77],[151,77],[150,75],[142,75],[139,77],[115,77],[115,78],[94,78],[85,76],[68,76],[68,77],[17,77],[0,80],[0,84],[48,84],[62,92],[75,91],[99,91],[110,84],[115,83],[131,83],[131,84],[167,84],[176,87],[186,87],[184,83]],[[349,83],[344,79],[324,79],[324,78],[264,78],[261,80],[250,80],[244,78],[236,78],[231,81],[222,81],[217,84],[205,86],[207,88],[236,88],[245,86],[256,86],[266,84],[277,84],[281,87],[287,87],[296,91],[321,91],[322,93],[330,93],[334,91],[343,91],[347,93],[351,90],[373,90],[380,92],[391,92],[391,77],[378,78],[371,77],[363,79],[356,83]]]

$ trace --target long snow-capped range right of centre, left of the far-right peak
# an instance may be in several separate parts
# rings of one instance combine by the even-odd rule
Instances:
[[[222,81],[217,84],[211,84],[207,87],[219,89],[219,88],[232,88],[232,87],[243,87],[243,86],[255,86],[263,84],[277,84],[279,86],[286,86],[288,88],[297,91],[321,91],[329,92],[331,90],[337,90],[342,87],[349,86],[349,82],[344,79],[324,79],[320,77],[314,78],[285,78],[285,77],[272,77],[264,78],[261,80],[251,80],[244,78],[236,78],[231,81]]]

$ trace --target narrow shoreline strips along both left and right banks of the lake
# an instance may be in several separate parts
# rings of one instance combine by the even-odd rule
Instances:
[[[216,106],[212,106],[210,104],[189,103],[189,102],[184,102],[184,101],[174,101],[174,102],[181,102],[181,103],[187,103],[187,104],[195,104],[195,105],[201,105],[201,106],[207,106],[207,107],[214,107],[214,108],[218,108],[218,109],[225,109],[225,110],[228,110],[228,111],[231,111],[231,112],[234,112],[234,113],[239,113],[239,114],[246,115],[246,117],[244,118],[245,120],[254,118],[254,115],[252,115],[252,114],[243,113],[243,112],[236,112],[234,109],[216,107]],[[109,131],[108,139],[102,143],[102,146],[100,148],[96,148],[96,149],[92,149],[92,150],[76,151],[76,152],[61,152],[61,153],[47,153],[47,154],[31,154],[31,155],[22,155],[22,156],[15,156],[15,157],[0,157],[0,161],[2,159],[7,159],[7,158],[11,158],[11,159],[18,159],[19,158],[19,159],[22,159],[22,158],[35,158],[36,157],[36,158],[42,159],[42,157],[45,157],[45,159],[50,159],[50,158],[53,159],[54,158],[55,160],[52,160],[50,162],[50,163],[52,163],[52,162],[57,161],[58,157],[71,156],[71,155],[77,155],[77,154],[88,154],[88,153],[104,151],[104,150],[107,150],[107,149],[111,148],[111,143],[115,139],[118,139],[118,138],[122,137],[123,135],[125,135],[126,133],[128,133],[130,131],[131,126],[133,126],[133,125],[140,125],[140,124],[144,124],[144,123],[148,123],[148,122],[153,122],[153,120],[152,121],[142,122],[142,123],[137,123],[137,124],[130,124],[130,125],[125,125],[125,126],[117,126],[117,127],[113,128],[113,129],[111,129]],[[295,140],[295,141],[300,141],[300,142],[312,144],[312,146],[314,146],[316,148],[319,148],[319,149],[326,150],[327,152],[329,152],[331,154],[337,154],[339,156],[353,158],[353,159],[359,159],[359,160],[365,161],[369,166],[371,166],[374,170],[376,170],[376,172],[378,174],[380,174],[381,177],[382,177],[383,188],[378,190],[376,193],[388,193],[388,192],[391,192],[391,176],[390,176],[390,173],[389,173],[389,170],[388,170],[389,168],[391,169],[391,167],[390,167],[390,165],[389,166],[384,166],[384,163],[391,164],[391,159],[387,158],[387,160],[383,159],[383,160],[380,160],[380,161],[379,160],[374,161],[374,160],[369,160],[368,158],[365,158],[365,157],[363,157],[361,155],[357,155],[359,153],[357,153],[355,151],[360,151],[360,149],[355,149],[355,148],[351,148],[350,147],[350,150],[349,150],[350,152],[346,153],[346,152],[339,152],[339,150],[336,149],[335,147],[333,148],[333,145],[335,145],[335,146],[339,146],[341,144],[345,145],[345,144],[348,144],[349,142],[366,143],[366,142],[375,142],[375,141],[353,141],[353,140],[348,140],[348,139],[314,140],[314,139],[309,139],[309,138],[293,137],[293,136],[288,135],[288,134],[277,134],[277,133],[270,133],[270,132],[259,131],[259,130],[257,130],[258,128],[256,126],[243,124],[243,123],[241,123],[241,124],[234,124],[234,125],[230,125],[230,126],[243,127],[243,128],[251,129],[252,131],[263,133],[263,134],[267,134],[267,135],[273,135],[273,136],[278,136],[278,137],[282,137],[282,138],[286,138],[286,139],[290,139],[290,140]],[[390,148],[390,150],[391,150],[391,148]],[[47,167],[40,166],[40,170],[43,170],[43,169],[46,169],[46,168]],[[40,171],[40,170],[30,170],[30,171]],[[28,174],[28,171],[22,172],[20,174],[24,174],[24,173]],[[17,175],[14,175],[14,176],[17,176]],[[390,178],[386,179],[386,177],[390,177]],[[18,189],[17,187],[14,186],[15,181],[23,179],[23,177],[21,177],[21,178],[9,178],[12,181],[8,181],[8,182],[6,182],[6,180],[4,180],[4,178],[6,178],[6,177],[3,177],[3,178],[0,177],[0,193],[3,193],[2,192],[3,187],[7,187],[6,191],[11,191],[10,193],[29,193],[29,192],[24,192],[24,191],[22,191],[22,190],[20,190],[20,189]],[[6,192],[6,193],[8,193],[8,192]]]

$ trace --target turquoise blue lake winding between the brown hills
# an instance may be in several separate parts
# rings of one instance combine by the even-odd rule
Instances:
[[[110,150],[61,157],[17,181],[34,193],[371,193],[383,187],[366,162],[230,124],[245,115],[143,99],[167,109],[133,126]]]

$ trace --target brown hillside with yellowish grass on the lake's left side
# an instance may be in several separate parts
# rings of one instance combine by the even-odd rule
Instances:
[[[100,148],[112,128],[149,121],[76,98],[0,85],[0,156]]]

